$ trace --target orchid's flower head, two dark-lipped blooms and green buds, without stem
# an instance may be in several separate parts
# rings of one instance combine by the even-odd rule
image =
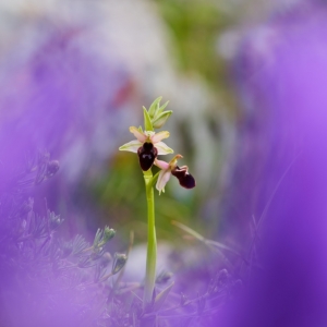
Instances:
[[[167,146],[164,138],[169,137],[168,131],[161,131],[155,133],[154,129],[161,128],[172,111],[164,111],[168,102],[160,107],[161,97],[157,98],[148,110],[143,107],[144,111],[144,128],[145,131],[140,126],[130,128],[130,132],[134,134],[136,140],[133,140],[119,149],[125,152],[136,153],[138,156],[140,166],[143,171],[149,170],[153,165],[156,165],[161,170],[158,174],[156,189],[159,193],[165,192],[165,186],[170,179],[170,175],[174,175],[180,185],[185,189],[193,189],[195,186],[195,180],[191,173],[189,173],[187,166],[179,167],[177,165],[178,159],[183,158],[181,155],[177,155],[169,162],[157,159],[158,155],[172,154],[173,150]]]

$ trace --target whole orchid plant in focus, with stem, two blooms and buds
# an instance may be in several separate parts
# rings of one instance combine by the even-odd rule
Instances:
[[[144,114],[144,130],[140,126],[130,128],[130,132],[134,134],[136,140],[133,140],[119,149],[124,152],[136,153],[138,156],[140,166],[143,170],[146,202],[147,202],[147,250],[146,250],[146,272],[144,282],[143,294],[143,310],[148,312],[160,301],[165,290],[154,298],[155,284],[156,284],[156,263],[157,263],[157,235],[155,223],[155,196],[154,196],[154,183],[157,181],[157,190],[159,194],[165,192],[165,186],[170,179],[170,175],[174,175],[180,181],[180,184],[186,189],[193,189],[195,186],[195,180],[192,174],[189,173],[186,166],[178,167],[178,159],[182,158],[181,155],[177,155],[170,162],[161,161],[157,159],[158,155],[173,154],[173,150],[168,147],[164,142],[164,138],[169,137],[169,132],[162,131],[155,133],[155,129],[160,129],[172,111],[165,111],[166,106],[160,106],[161,97],[155,99],[147,110],[143,107]],[[161,170],[153,175],[153,165],[158,166]]]

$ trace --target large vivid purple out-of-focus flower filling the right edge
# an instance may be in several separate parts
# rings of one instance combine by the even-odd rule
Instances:
[[[262,268],[252,268],[217,326],[327,326],[326,17],[325,7],[299,8],[254,29],[241,48],[244,146],[247,155],[259,149],[243,152],[243,162],[262,167],[261,183],[250,169],[247,190],[253,196],[255,181],[259,195],[244,213],[257,215]]]

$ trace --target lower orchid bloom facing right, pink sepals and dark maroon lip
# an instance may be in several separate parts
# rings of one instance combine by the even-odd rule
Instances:
[[[179,180],[181,186],[185,189],[193,189],[195,186],[195,179],[191,173],[189,173],[187,166],[177,166],[177,161],[180,158],[183,158],[183,156],[175,155],[169,162],[155,159],[155,165],[161,169],[156,184],[156,189],[159,191],[159,194],[161,191],[165,192],[165,186],[171,174]]]

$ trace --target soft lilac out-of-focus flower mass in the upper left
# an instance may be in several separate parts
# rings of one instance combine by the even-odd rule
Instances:
[[[98,165],[116,147],[108,140],[119,133],[130,75],[113,49],[104,56],[96,41],[88,45],[88,26],[29,25],[34,33],[16,35],[1,56],[0,158],[10,167],[0,169],[5,174],[26,153],[46,148],[74,180],[89,158]]]

